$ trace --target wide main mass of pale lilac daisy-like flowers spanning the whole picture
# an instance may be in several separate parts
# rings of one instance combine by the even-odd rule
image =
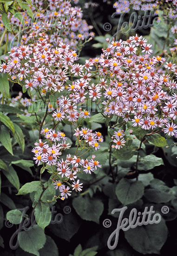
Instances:
[[[113,40],[98,58],[79,65],[74,64],[78,56],[68,45],[51,49],[46,40],[38,40],[32,48],[13,48],[0,71],[25,79],[31,90],[63,94],[52,114],[56,121],[88,117],[87,110],[77,111],[77,104],[90,99],[102,102],[103,115],[122,117],[134,127],[168,128],[177,117],[177,67],[152,53],[147,40],[136,35]],[[97,82],[93,82],[95,76]],[[173,128],[171,123],[169,129]]]

